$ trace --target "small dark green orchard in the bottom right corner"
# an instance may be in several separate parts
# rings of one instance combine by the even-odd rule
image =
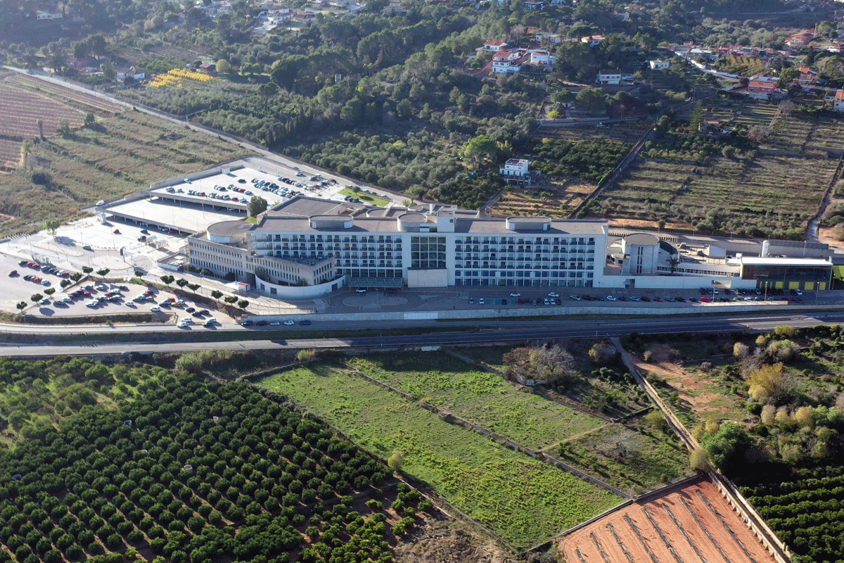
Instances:
[[[755,480],[741,492],[782,541],[807,560],[844,559],[844,468],[793,469]]]

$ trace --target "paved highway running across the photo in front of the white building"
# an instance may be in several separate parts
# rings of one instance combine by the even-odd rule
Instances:
[[[430,333],[408,336],[384,337],[349,337],[349,338],[273,338],[283,331],[273,331],[269,338],[261,339],[260,330],[252,329],[254,340],[236,340],[223,342],[135,342],[135,343],[82,343],[82,344],[0,344],[0,356],[8,357],[44,357],[52,355],[122,355],[129,352],[141,354],[191,352],[206,349],[322,349],[347,347],[403,347],[436,346],[450,344],[480,344],[522,340],[544,340],[547,338],[576,337],[612,337],[625,333],[673,334],[673,333],[729,333],[734,331],[769,331],[779,325],[792,327],[814,327],[819,324],[840,324],[844,322],[844,311],[813,313],[762,313],[759,315],[741,314],[724,317],[660,317],[636,319],[587,319],[561,321],[462,321],[462,322],[403,322],[394,327],[386,327],[383,322],[335,322],[329,327],[319,327],[315,323],[312,329],[378,329],[409,327],[479,327],[479,332]],[[2,325],[0,331],[14,325]],[[38,333],[96,335],[112,332],[139,332],[139,328],[161,332],[171,325],[125,325],[101,327],[38,327]],[[33,332],[31,327],[17,326],[19,332]],[[175,330],[179,330],[172,327]],[[298,327],[297,327],[298,328]],[[206,330],[198,328],[199,330]],[[238,330],[246,330],[238,328]],[[291,331],[291,336],[297,331]]]

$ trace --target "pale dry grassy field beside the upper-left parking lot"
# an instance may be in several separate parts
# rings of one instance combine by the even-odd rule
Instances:
[[[180,176],[231,160],[246,150],[154,116],[127,111],[35,143],[29,171],[0,176],[3,235],[41,228],[45,219],[62,222],[100,199],[121,197],[153,181]],[[42,171],[41,183],[32,172]]]

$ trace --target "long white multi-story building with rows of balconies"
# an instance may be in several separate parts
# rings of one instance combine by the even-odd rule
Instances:
[[[327,211],[308,216],[299,212]],[[475,212],[366,209],[295,198],[257,225],[224,221],[187,239],[192,266],[265,295],[314,297],[358,287],[592,287],[607,222],[479,219]]]

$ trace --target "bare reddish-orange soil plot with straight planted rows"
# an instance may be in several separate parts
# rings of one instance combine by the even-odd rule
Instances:
[[[561,538],[560,549],[568,563],[774,560],[705,477],[612,512]]]

